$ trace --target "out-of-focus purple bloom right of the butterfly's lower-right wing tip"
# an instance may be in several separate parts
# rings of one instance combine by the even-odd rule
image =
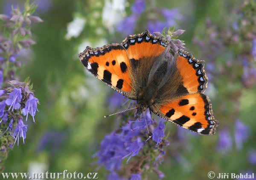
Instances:
[[[235,142],[236,149],[241,150],[243,148],[243,141],[246,141],[248,138],[248,126],[243,124],[241,121],[235,121]]]

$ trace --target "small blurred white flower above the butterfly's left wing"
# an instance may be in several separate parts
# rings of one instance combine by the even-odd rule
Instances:
[[[75,17],[72,22],[67,25],[66,39],[71,39],[72,37],[78,37],[83,31],[86,21],[84,18]]]

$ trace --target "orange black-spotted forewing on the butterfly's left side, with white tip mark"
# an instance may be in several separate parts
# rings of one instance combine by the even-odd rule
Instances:
[[[131,84],[130,62],[122,45],[110,44],[101,48],[87,46],[79,58],[99,80],[128,98],[137,98]]]

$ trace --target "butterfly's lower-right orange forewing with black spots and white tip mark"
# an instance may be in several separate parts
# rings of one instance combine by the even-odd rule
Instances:
[[[203,93],[180,96],[172,102],[149,108],[156,115],[202,135],[215,134],[219,124],[212,113],[211,101]]]

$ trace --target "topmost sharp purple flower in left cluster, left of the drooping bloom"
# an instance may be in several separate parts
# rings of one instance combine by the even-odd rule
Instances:
[[[21,98],[22,98],[22,96],[21,96],[21,87],[18,88],[18,89],[15,87],[13,92],[8,93],[8,94],[9,94],[9,98],[6,99],[6,104],[8,106],[10,106],[8,110],[10,110],[11,107],[12,107],[12,111],[13,111],[13,109],[18,110],[20,108],[20,103],[19,102],[21,101]]]

